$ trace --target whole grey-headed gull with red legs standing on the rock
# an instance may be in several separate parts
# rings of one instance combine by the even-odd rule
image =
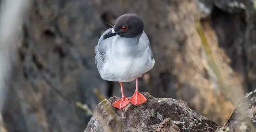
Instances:
[[[120,110],[129,102],[136,106],[147,102],[138,90],[138,78],[153,68],[155,60],[149,38],[143,30],[143,20],[137,14],[123,14],[101,35],[95,46],[95,64],[101,78],[120,83],[122,97],[112,104]],[[134,80],[135,92],[128,99],[123,82]]]

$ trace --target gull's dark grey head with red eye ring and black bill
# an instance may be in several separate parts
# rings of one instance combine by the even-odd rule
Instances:
[[[125,38],[133,38],[142,34],[144,24],[141,18],[136,14],[124,14],[117,18],[113,30],[106,33],[103,37],[109,38],[115,35],[119,35]]]

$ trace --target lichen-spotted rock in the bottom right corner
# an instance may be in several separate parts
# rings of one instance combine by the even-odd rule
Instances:
[[[246,120],[239,111],[245,114]],[[252,126],[248,124],[250,121]],[[255,132],[256,130],[256,90],[249,92],[240,100],[240,104],[234,109],[230,118],[217,132]]]

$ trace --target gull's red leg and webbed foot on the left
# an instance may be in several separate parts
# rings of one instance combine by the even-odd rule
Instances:
[[[112,106],[122,110],[129,103],[129,101],[128,101],[128,98],[126,98],[126,95],[123,92],[123,83],[122,82],[119,82],[119,83],[121,85],[122,98],[117,100],[116,102],[114,102],[112,104]]]

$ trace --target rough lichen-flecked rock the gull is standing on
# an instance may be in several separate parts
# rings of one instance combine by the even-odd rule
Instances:
[[[218,127],[212,120],[196,114],[181,100],[155,98],[148,92],[141,93],[147,102],[139,106],[129,103],[123,110],[111,106],[118,99],[116,96],[103,100],[120,119],[123,132],[214,132]],[[102,102],[96,106],[95,117],[102,117],[103,120],[92,117],[85,132],[105,132],[103,126],[106,124],[113,132],[120,132],[115,119],[105,108]]]

